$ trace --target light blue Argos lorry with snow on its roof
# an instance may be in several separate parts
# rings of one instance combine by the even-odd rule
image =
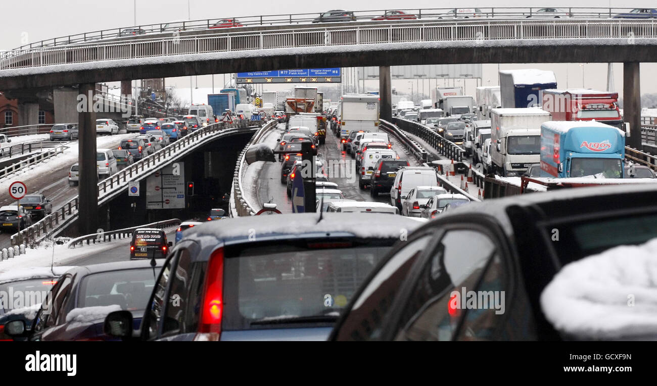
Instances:
[[[596,121],[541,125],[541,177],[623,178],[625,133]]]

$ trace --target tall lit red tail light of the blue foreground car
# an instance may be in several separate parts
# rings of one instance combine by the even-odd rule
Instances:
[[[198,332],[212,333],[210,339],[219,340],[223,316],[223,248],[212,253],[208,266]]]

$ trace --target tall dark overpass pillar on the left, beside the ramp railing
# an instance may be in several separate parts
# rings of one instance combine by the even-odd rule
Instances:
[[[95,83],[79,85],[79,93],[95,93]],[[81,235],[95,233],[98,229],[98,172],[96,168],[96,113],[93,100],[87,100],[82,112],[78,113],[78,230]]]

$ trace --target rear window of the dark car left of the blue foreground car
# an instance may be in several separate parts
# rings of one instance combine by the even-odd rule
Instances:
[[[119,305],[122,310],[145,309],[154,287],[153,268],[99,272],[83,278],[77,308]]]

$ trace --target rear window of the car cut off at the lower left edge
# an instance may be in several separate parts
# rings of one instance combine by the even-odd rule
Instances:
[[[14,309],[39,305],[43,303],[48,291],[56,283],[57,279],[38,278],[0,284],[0,310],[6,313]]]

